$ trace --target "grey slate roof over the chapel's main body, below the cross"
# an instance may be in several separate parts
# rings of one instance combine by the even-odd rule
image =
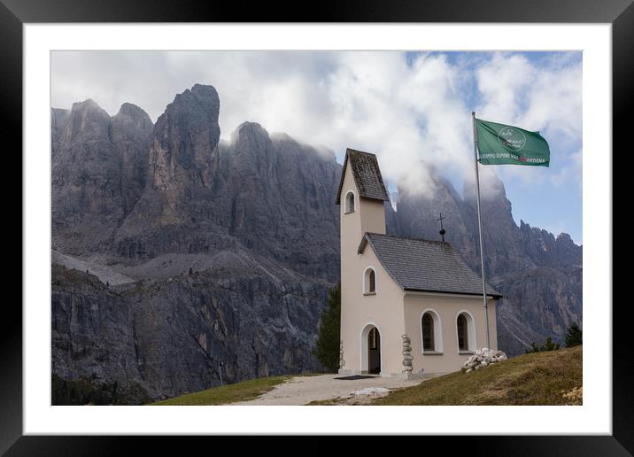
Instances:
[[[359,253],[368,243],[383,267],[404,290],[482,297],[482,276],[475,273],[449,243],[366,233]],[[487,295],[502,298],[489,284]]]

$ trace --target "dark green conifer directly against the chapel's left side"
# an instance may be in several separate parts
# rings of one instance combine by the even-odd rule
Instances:
[[[341,283],[328,292],[328,305],[321,311],[317,344],[313,355],[330,373],[339,368],[339,334],[341,330]]]

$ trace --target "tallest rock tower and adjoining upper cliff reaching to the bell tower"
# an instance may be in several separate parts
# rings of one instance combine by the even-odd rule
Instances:
[[[114,239],[132,262],[237,244],[303,275],[338,275],[335,155],[245,122],[219,143],[218,94],[194,86],[174,99],[151,135],[148,183]]]

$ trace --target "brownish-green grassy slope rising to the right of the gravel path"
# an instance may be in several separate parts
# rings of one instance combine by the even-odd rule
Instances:
[[[461,371],[392,391],[373,405],[581,404],[582,346],[520,355],[471,373]],[[576,395],[579,394],[579,395]]]

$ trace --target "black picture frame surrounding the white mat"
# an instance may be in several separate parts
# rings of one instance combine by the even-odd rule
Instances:
[[[486,23],[610,23],[612,24],[612,71],[613,71],[613,149],[631,154],[628,142],[631,128],[628,108],[632,105],[634,81],[634,5],[631,0],[400,0],[381,2],[378,0],[322,1],[319,4],[252,3],[245,7],[239,2],[195,1],[156,2],[143,0],[0,0],[0,94],[2,112],[0,129],[2,138],[12,142],[5,151],[22,151],[22,26],[25,23],[74,23],[74,22],[486,22]],[[630,110],[629,110],[630,111]],[[607,152],[604,152],[607,154]],[[5,170],[6,174],[20,175],[23,172],[21,155],[5,154],[16,163]],[[618,167],[617,169],[625,167]],[[15,173],[19,169],[20,174]],[[17,183],[4,181],[4,195],[15,195]],[[613,182],[616,179],[613,178]],[[21,189],[21,186],[20,186]],[[9,191],[11,190],[11,193]],[[617,194],[615,194],[615,198]],[[17,199],[16,199],[17,200]],[[17,202],[14,202],[17,204]],[[613,204],[614,207],[614,204]],[[21,212],[21,205],[19,211]],[[17,251],[14,240],[22,238],[21,217],[11,220],[7,240],[12,239],[12,248]],[[616,228],[616,227],[615,227]],[[613,239],[619,239],[613,230],[612,221],[606,221],[606,230]],[[621,238],[627,239],[627,238]],[[608,245],[611,250],[612,246]],[[622,255],[622,254],[621,254]],[[20,275],[19,267],[12,262],[11,269]],[[5,265],[9,265],[8,262]],[[613,278],[625,275],[615,269]],[[22,278],[22,277],[21,277]],[[22,278],[23,279],[23,278]],[[613,279],[613,284],[614,284]],[[17,288],[16,288],[17,289]],[[21,292],[20,292],[21,300]],[[445,449],[463,447],[482,455],[629,455],[634,453],[634,358],[626,344],[630,329],[627,319],[628,301],[617,302],[607,293],[605,303],[587,306],[612,307],[613,315],[613,433],[610,436],[472,436],[472,437],[418,437],[425,445],[444,445]],[[613,302],[619,303],[613,306]],[[161,453],[171,449],[184,450],[182,441],[212,445],[221,449],[227,438],[197,437],[176,438],[176,443],[166,443],[166,438],[130,437],[35,437],[22,436],[22,314],[17,299],[4,301],[0,318],[0,453],[6,455],[109,455],[133,451],[133,441],[143,440],[143,453],[152,448]],[[45,306],[45,304],[43,304]],[[503,418],[500,418],[503,420]],[[251,438],[240,438],[241,446],[248,445]],[[246,441],[244,441],[246,439]],[[266,438],[265,438],[266,439]],[[314,438],[316,439],[316,438]],[[367,449],[367,440],[364,448]],[[188,447],[191,445],[188,442]],[[414,444],[406,445],[410,448]],[[418,446],[419,444],[416,444]],[[174,447],[173,447],[174,446]],[[404,450],[406,449],[404,448]],[[284,451],[276,447],[275,452],[296,453],[292,446]],[[310,448],[308,448],[310,449]],[[329,448],[313,446],[313,451],[328,452]]]

